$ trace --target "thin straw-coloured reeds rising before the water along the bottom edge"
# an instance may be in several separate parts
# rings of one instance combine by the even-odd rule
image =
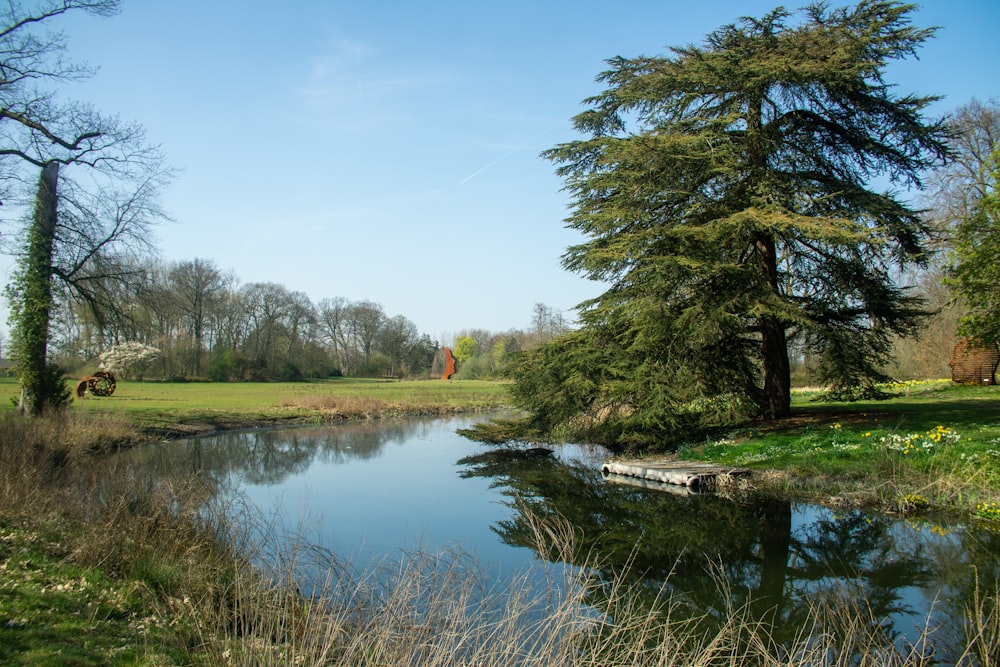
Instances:
[[[537,532],[545,539],[573,534],[566,526]],[[846,589],[813,601],[807,622],[779,643],[749,604],[726,609],[706,634],[701,619],[683,613],[683,601],[665,590],[651,610],[625,578],[601,581],[590,568],[540,563],[544,585],[537,573],[523,573],[490,588],[474,561],[454,552],[411,553],[358,572],[335,555],[299,547],[285,567],[297,576],[276,581],[246,571],[246,578],[237,577],[235,597],[251,609],[236,615],[242,625],[225,622],[232,608],[218,610],[220,618],[209,625],[228,630],[204,637],[214,658],[372,667],[882,667],[935,664],[937,657],[929,623],[916,641],[901,642],[863,597]],[[298,591],[304,580],[315,588]],[[729,584],[719,575],[718,585],[725,593]],[[591,604],[595,597],[600,609]],[[959,652],[959,665],[993,665],[1000,649],[994,602],[984,597],[977,604],[968,612],[972,641]]]

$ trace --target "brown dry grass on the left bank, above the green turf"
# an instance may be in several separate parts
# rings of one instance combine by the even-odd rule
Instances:
[[[131,581],[151,601],[214,585],[229,560],[201,513],[214,490],[108,452],[135,440],[114,416],[0,417],[0,518],[50,535],[60,557]]]

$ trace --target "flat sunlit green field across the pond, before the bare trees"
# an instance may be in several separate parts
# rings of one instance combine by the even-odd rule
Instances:
[[[14,378],[0,378],[0,411],[13,409],[17,392]],[[74,398],[72,410],[121,414],[147,432],[185,435],[268,424],[495,410],[504,402],[503,384],[478,380],[119,381],[112,396]]]

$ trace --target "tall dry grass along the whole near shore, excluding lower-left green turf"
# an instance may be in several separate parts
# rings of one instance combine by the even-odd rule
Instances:
[[[460,551],[358,569],[288,535],[198,479],[152,478],[135,459],[86,454],[112,424],[0,421],[0,517],[31,522],[66,559],[131,582],[191,664],[476,667],[889,666],[933,661],[935,629],[900,643],[856,591],[816,596],[791,639],[750,604],[711,619],[664,587],[653,608],[631,580],[539,561],[503,584]],[[220,500],[221,499],[221,500]],[[570,562],[576,529],[532,523],[534,547]],[[729,582],[719,568],[723,599]],[[599,605],[595,601],[599,600]],[[967,610],[964,666],[1000,655],[997,591]],[[783,636],[787,636],[787,633]]]

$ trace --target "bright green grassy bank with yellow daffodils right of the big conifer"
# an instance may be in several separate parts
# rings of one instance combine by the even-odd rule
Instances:
[[[759,489],[827,505],[961,512],[1000,528],[1000,388],[889,389],[891,400],[849,404],[800,391],[792,418],[690,443],[679,455],[754,469]]]

